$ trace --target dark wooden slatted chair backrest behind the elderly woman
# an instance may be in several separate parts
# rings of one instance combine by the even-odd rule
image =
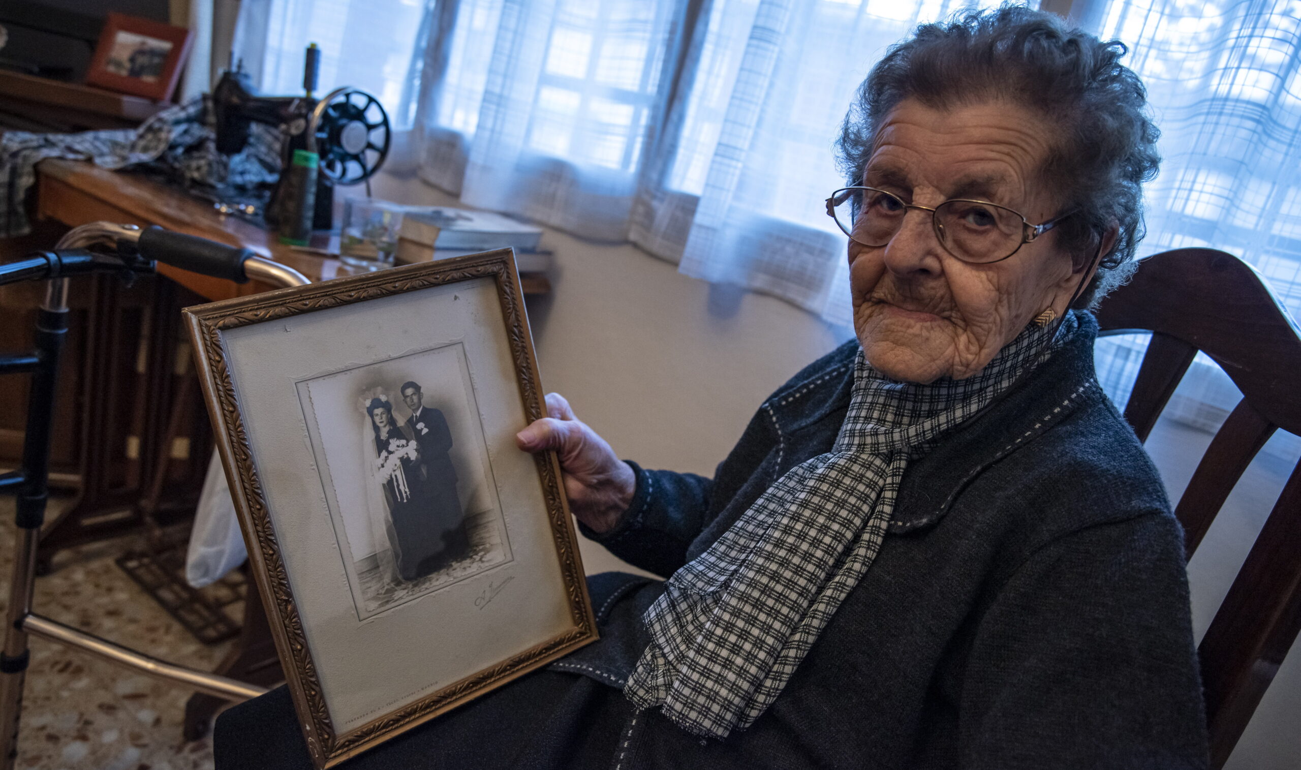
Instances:
[[[1192,557],[1275,429],[1301,434],[1301,333],[1263,278],[1210,248],[1142,260],[1098,308],[1105,334],[1151,332],[1125,419],[1146,441],[1198,350],[1242,392],[1175,515]],[[1211,766],[1222,767],[1301,631],[1301,463],[1279,494],[1198,646]]]

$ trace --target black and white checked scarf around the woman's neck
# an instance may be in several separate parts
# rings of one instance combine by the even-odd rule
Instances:
[[[1059,328],[1060,326],[1060,328]],[[1046,360],[1079,324],[1029,326],[981,372],[896,382],[859,351],[831,451],[777,480],[647,610],[650,644],[623,688],[679,727],[726,737],[749,727],[872,566],[909,459]]]

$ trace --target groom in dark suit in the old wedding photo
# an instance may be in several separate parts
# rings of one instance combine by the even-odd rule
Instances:
[[[418,382],[402,384],[402,402],[411,410],[406,427],[415,438],[420,457],[420,485],[414,496],[424,498],[431,514],[429,524],[442,532],[444,551],[440,562],[446,564],[470,551],[464,514],[457,496],[457,470],[451,464],[451,431],[440,410],[424,406],[424,393]]]

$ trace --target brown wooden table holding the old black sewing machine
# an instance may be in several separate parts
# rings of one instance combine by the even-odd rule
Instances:
[[[336,258],[321,252],[304,251],[277,243],[262,228],[237,216],[219,213],[211,203],[185,195],[174,189],[152,182],[139,176],[111,172],[88,163],[47,159],[38,169],[38,216],[57,220],[68,226],[94,221],[135,224],[141,226],[159,225],[169,230],[189,233],[220,241],[233,246],[243,246],[262,256],[286,264],[312,281],[329,280],[364,272],[351,268]],[[328,242],[316,242],[328,247]],[[87,334],[88,354],[81,367],[85,384],[82,411],[82,453],[81,453],[81,498],[68,512],[52,522],[42,535],[40,563],[47,568],[57,549],[125,533],[141,525],[141,501],[150,486],[152,475],[148,464],[167,467],[174,463],[174,454],[165,436],[167,425],[176,420],[167,414],[170,401],[178,401],[178,363],[189,358],[185,343],[180,341],[178,302],[198,297],[199,300],[219,300],[245,297],[265,291],[271,286],[258,282],[234,284],[221,278],[200,276],[189,271],[159,264],[157,272],[170,281],[155,281],[150,303],[150,315],[135,326],[122,324],[120,317],[124,303],[113,291],[112,280],[101,281],[95,289],[95,298],[88,302],[90,319]],[[174,282],[174,284],[173,284]],[[544,273],[520,273],[520,284],[526,295],[545,294],[550,284]],[[176,291],[180,285],[186,291]],[[139,293],[135,290],[137,294]],[[139,299],[135,300],[137,306]],[[139,307],[135,307],[138,311]],[[138,347],[131,347],[134,338],[124,334],[122,328],[137,329]],[[121,337],[127,337],[124,342]],[[96,339],[96,337],[103,337]],[[138,355],[129,355],[127,351]],[[129,360],[124,360],[129,359]],[[125,368],[124,368],[125,364]],[[134,373],[131,373],[134,364]],[[133,384],[134,378],[134,384]],[[103,380],[103,381],[96,381]],[[198,393],[198,389],[194,389]],[[142,397],[144,393],[147,397]],[[133,401],[134,398],[134,401]],[[134,476],[122,471],[122,428],[124,410],[137,414],[130,421],[139,433],[135,437],[137,468]],[[116,421],[114,421],[116,420]],[[191,420],[193,444],[198,447],[211,446],[207,433],[207,415],[202,411]],[[117,425],[114,428],[114,425]],[[127,455],[131,442],[126,441]],[[185,471],[172,471],[170,494],[183,507],[189,496],[196,498],[202,484],[202,472],[207,467],[207,451],[199,450],[195,457],[186,458]],[[173,459],[169,459],[173,458]],[[116,464],[114,464],[116,463]],[[131,484],[124,484],[124,477]],[[181,499],[183,498],[183,499]],[[157,501],[154,501],[155,503]],[[126,506],[126,515],[113,509]],[[156,507],[156,506],[155,506]],[[105,512],[108,511],[108,512]],[[245,619],[241,637],[235,648],[217,667],[225,676],[242,679],[255,684],[269,685],[282,679],[275,644],[256,591],[248,591],[245,602]],[[206,695],[195,695],[186,705],[185,732],[194,740],[208,727],[212,714],[221,701]]]

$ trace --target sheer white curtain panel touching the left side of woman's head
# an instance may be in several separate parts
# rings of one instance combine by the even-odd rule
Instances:
[[[667,186],[699,195],[682,272],[848,324],[833,143],[886,48],[965,0],[716,0]]]

